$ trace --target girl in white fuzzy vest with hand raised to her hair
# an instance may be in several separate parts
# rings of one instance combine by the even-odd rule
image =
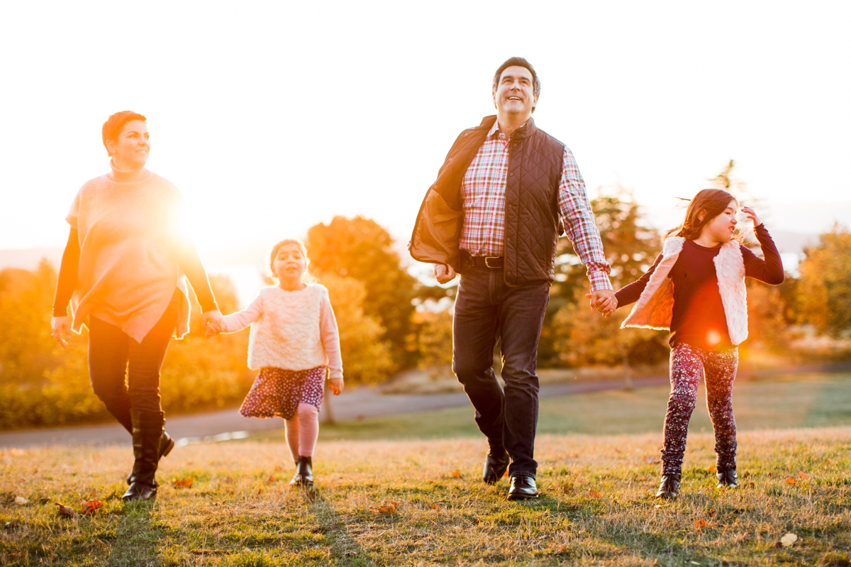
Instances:
[[[662,253],[636,282],[601,305],[604,314],[636,303],[621,328],[671,330],[671,397],[665,415],[665,447],[658,498],[680,489],[688,420],[705,375],[706,406],[715,430],[718,488],[735,488],[736,422],[733,381],[738,345],[747,338],[745,276],[777,285],[784,279],[780,254],[753,209],[765,260],[734,239],[736,200],[726,191],[704,189],[688,204],[683,225],[668,232]]]

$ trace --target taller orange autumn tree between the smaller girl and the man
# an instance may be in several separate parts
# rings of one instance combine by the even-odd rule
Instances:
[[[397,367],[414,366],[416,352],[405,346],[418,283],[402,266],[390,233],[361,216],[335,216],[308,230],[306,246],[311,271],[320,279],[330,274],[363,283],[363,313],[384,329],[378,340],[387,341]]]

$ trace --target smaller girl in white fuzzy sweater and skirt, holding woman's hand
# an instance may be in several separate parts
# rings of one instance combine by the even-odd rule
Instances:
[[[319,433],[325,369],[334,395],[343,391],[340,335],[328,289],[305,283],[307,251],[299,240],[282,240],[271,250],[278,285],[260,289],[246,309],[227,315],[208,335],[233,333],[251,325],[248,368],[260,369],[239,413],[283,417],[295,461],[289,484],[313,484],[313,448]]]

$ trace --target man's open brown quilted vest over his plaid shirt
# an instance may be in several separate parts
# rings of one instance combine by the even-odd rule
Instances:
[[[458,241],[464,226],[461,182],[496,122],[485,117],[461,133],[449,150],[437,181],[420,207],[408,249],[415,260],[449,264],[460,271]],[[558,212],[558,183],[564,145],[534,125],[511,135],[505,183],[505,283],[552,282],[556,243],[564,232]]]

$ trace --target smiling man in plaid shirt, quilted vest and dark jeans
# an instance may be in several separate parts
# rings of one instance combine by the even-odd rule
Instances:
[[[455,140],[420,207],[409,249],[416,260],[435,264],[439,283],[461,275],[453,370],[488,438],[483,478],[494,484],[508,468],[509,500],[526,500],[538,496],[536,358],[565,227],[587,267],[591,305],[610,312],[614,293],[573,154],[532,119],[540,95],[533,66],[506,60],[492,90],[497,115]],[[493,369],[497,338],[505,391]]]

